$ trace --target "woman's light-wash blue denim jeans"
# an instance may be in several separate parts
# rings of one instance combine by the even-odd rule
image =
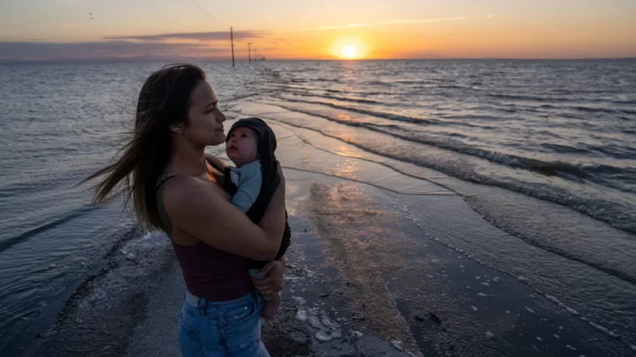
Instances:
[[[183,357],[269,357],[261,341],[265,301],[254,291],[232,301],[208,301],[186,292],[177,339]]]

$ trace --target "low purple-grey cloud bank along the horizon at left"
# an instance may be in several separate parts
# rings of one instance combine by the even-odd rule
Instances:
[[[218,56],[229,49],[170,42],[0,42],[2,60],[99,59],[112,57]]]

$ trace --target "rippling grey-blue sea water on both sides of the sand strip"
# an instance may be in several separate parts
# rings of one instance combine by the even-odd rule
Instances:
[[[636,329],[624,301],[636,289],[636,61],[252,64],[201,65],[230,118],[245,103],[286,109],[264,116],[399,171],[437,171],[431,181],[489,222],[584,263],[597,286],[619,279],[610,325]],[[0,350],[102,258],[147,238],[121,205],[90,205],[75,185],[116,153],[141,81],[160,66],[0,66]],[[593,290],[582,304],[603,302]],[[589,310],[596,324],[606,317]]]

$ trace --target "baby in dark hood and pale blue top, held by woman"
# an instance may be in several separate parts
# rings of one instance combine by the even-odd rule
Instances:
[[[276,136],[259,118],[240,119],[232,125],[225,139],[225,153],[236,165],[235,168],[225,169],[225,190],[233,193],[232,204],[257,224],[280,181],[274,150]],[[285,254],[289,247],[290,235],[289,224],[285,219],[285,232],[276,259]],[[265,277],[259,275],[259,270],[266,263],[248,260],[249,274],[257,279],[264,279]],[[262,316],[271,320],[276,317],[281,305],[281,295],[264,298],[266,303]]]

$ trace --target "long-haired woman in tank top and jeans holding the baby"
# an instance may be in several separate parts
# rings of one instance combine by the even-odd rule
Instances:
[[[179,313],[183,356],[269,356],[260,340],[261,294],[283,286],[285,262],[270,262],[262,281],[249,279],[247,259],[272,260],[285,226],[285,180],[258,226],[222,189],[225,164],[204,159],[207,145],[225,143],[225,116],[201,68],[172,65],[141,88],[135,132],[117,162],[91,175],[104,202],[124,180],[139,221],[170,237],[187,292]],[[254,290],[254,285],[260,291]]]

